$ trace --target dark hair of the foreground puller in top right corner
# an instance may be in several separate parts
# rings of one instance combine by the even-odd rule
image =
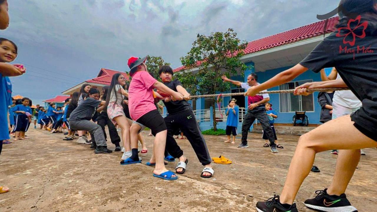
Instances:
[[[340,0],[338,13],[340,20],[336,27],[347,27],[351,18],[354,19],[357,15],[361,15],[360,23],[368,21],[368,27],[365,29],[366,35],[375,35],[377,32],[377,11],[374,9],[374,5],[376,3],[377,0]],[[351,28],[353,29],[357,24],[359,23],[353,22]],[[359,27],[354,32],[361,30],[363,28]]]

